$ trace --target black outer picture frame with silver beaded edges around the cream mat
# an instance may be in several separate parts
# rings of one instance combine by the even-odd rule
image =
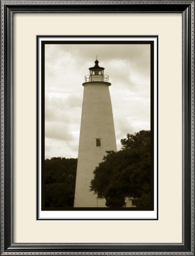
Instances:
[[[183,14],[182,243],[13,243],[12,16],[38,11]],[[1,1],[1,255],[194,255],[194,1]]]

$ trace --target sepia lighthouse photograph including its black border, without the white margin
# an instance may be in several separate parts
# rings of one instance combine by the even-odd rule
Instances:
[[[41,210],[154,210],[154,43],[41,51]]]

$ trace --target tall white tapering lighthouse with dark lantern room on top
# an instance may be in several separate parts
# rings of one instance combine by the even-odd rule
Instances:
[[[90,192],[93,171],[102,161],[105,151],[116,148],[115,127],[113,122],[108,76],[99,61],[85,77],[80,139],[78,151],[77,177],[74,207],[105,207],[105,200],[98,200]]]

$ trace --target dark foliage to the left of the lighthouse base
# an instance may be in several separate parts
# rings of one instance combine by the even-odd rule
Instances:
[[[45,160],[45,207],[73,207],[77,159]]]

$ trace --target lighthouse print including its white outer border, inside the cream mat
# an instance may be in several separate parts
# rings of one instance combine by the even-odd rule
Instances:
[[[37,77],[39,81],[37,84],[39,102],[37,117],[37,137],[39,138],[37,143],[37,159],[39,159],[37,162],[39,166],[37,170],[38,219],[158,219],[157,48],[157,36],[140,36],[138,38],[128,36],[37,36],[39,74]],[[78,86],[79,80],[82,80],[81,64],[87,63],[88,61],[84,60],[84,57],[90,55],[89,52],[92,55],[94,51],[99,52],[102,62],[105,59],[105,65],[108,62],[107,65],[111,66],[107,71],[110,75],[105,75],[104,68],[100,67],[98,56],[96,56],[94,67],[90,68],[91,75],[86,75],[83,79],[83,93],[83,88]],[[136,60],[134,60],[134,52],[138,52],[135,55]],[[66,71],[66,65],[61,63],[66,59],[67,54],[71,55],[70,59],[74,64],[69,64]],[[54,64],[53,55],[58,56],[56,64]],[[106,61],[108,58],[110,60]],[[139,64],[137,64],[138,62]],[[130,71],[127,74],[124,72],[128,69],[132,73],[130,77]],[[119,79],[116,76],[115,87],[109,89],[108,86],[111,86],[109,77],[114,77],[112,72],[118,73]],[[52,79],[50,78],[51,73],[53,74]],[[63,78],[60,78],[60,73],[63,74]],[[69,74],[71,76],[67,79]],[[139,81],[135,74],[138,74]],[[76,78],[77,76],[79,79]],[[134,82],[134,79],[137,81]],[[54,92],[53,84],[56,84]],[[132,93],[136,94],[136,97],[131,96]],[[74,98],[77,99],[77,105],[73,104]],[[81,108],[82,117],[80,118]],[[132,109],[132,113],[130,109]],[[63,110],[62,113],[61,110]],[[71,112],[74,113],[74,118],[73,114],[70,114]],[[129,120],[130,116],[132,117]],[[128,133],[129,126],[126,123],[132,126],[135,134]],[[67,126],[67,130],[70,130],[67,131],[69,135],[66,137],[64,137],[65,126]],[[55,127],[56,132],[53,130]],[[124,134],[125,137],[125,133],[129,134],[129,137],[122,141],[120,136]],[[134,141],[133,144],[136,146],[133,146],[130,141]],[[139,146],[137,141],[139,141]],[[127,142],[128,144],[126,144]],[[59,148],[60,143],[63,146]],[[62,151],[58,151],[57,148]],[[115,154],[117,148],[118,152]],[[113,149],[115,151],[112,151]],[[43,157],[44,155],[45,157]],[[107,160],[103,160],[104,158]],[[118,158],[123,159],[122,163],[118,162]],[[130,162],[127,160],[125,166],[124,159],[126,158],[132,160]],[[109,169],[103,167],[107,166],[109,161],[112,161],[112,164],[109,164]],[[63,162],[62,166],[61,162]],[[67,167],[65,167],[66,162],[69,163]],[[91,181],[92,171],[96,166],[99,168],[99,171],[96,170],[98,176],[95,175],[94,181]],[[112,170],[111,166],[115,166],[115,168]],[[118,167],[116,168],[116,166]],[[135,187],[132,192],[128,190],[134,186],[134,183],[137,183],[137,190],[140,193],[138,175],[135,175],[133,171],[135,166],[136,174],[138,168],[141,173],[143,172],[143,177],[141,178],[140,174],[139,179],[142,179],[140,183],[146,188],[141,192],[144,199],[140,199],[136,204],[136,200],[133,199]],[[71,171],[68,171],[69,168]],[[104,174],[102,175],[103,180],[100,179],[100,169]],[[132,185],[125,181],[128,175],[132,176],[129,177],[131,180],[129,182]],[[144,183],[143,180],[145,180]],[[102,192],[105,199],[103,196],[98,198],[97,195],[94,195],[94,191],[90,191],[91,182],[95,184],[94,191],[98,184],[98,189],[105,186],[105,192]],[[110,184],[108,185],[108,183]],[[70,188],[72,192],[70,192]],[[123,191],[124,196],[118,191]],[[63,200],[61,199],[62,193]]]

